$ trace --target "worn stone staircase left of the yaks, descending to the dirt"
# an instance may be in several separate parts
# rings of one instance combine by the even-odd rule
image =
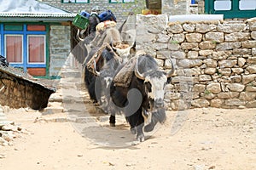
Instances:
[[[90,100],[84,87],[82,68],[63,66],[55,94],[49,97],[48,107],[40,120],[47,122],[108,122],[109,116]],[[124,119],[123,116],[118,116]]]

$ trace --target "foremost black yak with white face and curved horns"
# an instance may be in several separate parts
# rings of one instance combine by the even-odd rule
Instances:
[[[157,122],[163,123],[166,120],[164,88],[166,83],[171,81],[174,66],[172,64],[172,70],[166,73],[160,70],[158,63],[151,55],[140,54],[135,58],[136,65],[129,86],[119,86],[114,81],[111,82],[109,103],[115,111],[125,114],[131,133],[137,133],[137,140],[142,142],[144,141],[143,131],[150,132]],[[125,65],[119,66],[114,77]],[[111,114],[112,120],[110,121],[114,123],[115,113]],[[145,123],[148,124],[144,126]]]

